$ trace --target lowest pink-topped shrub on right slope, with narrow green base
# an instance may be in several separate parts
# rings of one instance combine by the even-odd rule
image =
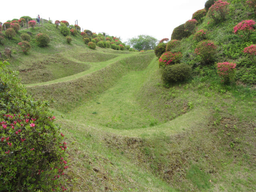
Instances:
[[[234,81],[235,70],[236,70],[235,63],[229,63],[229,62],[217,63],[217,73],[222,78],[221,81],[224,83],[229,83]]]

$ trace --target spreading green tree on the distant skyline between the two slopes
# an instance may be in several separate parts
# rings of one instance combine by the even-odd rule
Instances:
[[[157,39],[149,35],[138,35],[137,37],[128,39],[127,44],[137,50],[154,50]]]

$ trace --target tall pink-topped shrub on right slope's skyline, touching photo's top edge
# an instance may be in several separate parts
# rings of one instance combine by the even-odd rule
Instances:
[[[208,10],[208,17],[212,18],[215,22],[218,20],[225,20],[226,15],[229,13],[228,5],[230,3],[222,0],[216,1]]]

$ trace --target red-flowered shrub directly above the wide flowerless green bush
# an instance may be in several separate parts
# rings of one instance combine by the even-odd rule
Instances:
[[[162,56],[158,60],[159,68],[165,68],[167,65],[173,65],[178,62],[180,62],[180,59],[182,58],[181,52],[175,52],[172,53],[170,51],[165,52],[162,54]]]

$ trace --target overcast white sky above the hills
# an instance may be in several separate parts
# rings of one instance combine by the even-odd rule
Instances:
[[[204,8],[206,0],[12,0],[1,1],[0,22],[22,16],[66,20],[92,32],[106,32],[122,42],[138,35],[171,38],[175,27]]]

